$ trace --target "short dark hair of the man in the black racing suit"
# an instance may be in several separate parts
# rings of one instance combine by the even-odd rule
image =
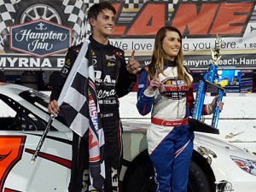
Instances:
[[[93,19],[97,19],[97,16],[102,12],[102,10],[104,9],[108,9],[111,10],[113,12],[113,15],[116,14],[116,10],[114,9],[114,7],[108,3],[108,2],[102,2],[102,3],[96,3],[94,5],[92,5],[88,11],[88,16],[87,18],[93,18]]]

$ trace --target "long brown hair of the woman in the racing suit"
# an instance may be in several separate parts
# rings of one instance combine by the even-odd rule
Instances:
[[[185,84],[187,84],[187,86],[190,86],[191,80],[189,79],[188,74],[185,73],[185,68],[183,67],[182,35],[178,31],[178,29],[174,26],[163,26],[156,33],[156,36],[154,39],[154,50],[152,55],[152,61],[148,65],[148,75],[150,77],[154,77],[154,73],[156,72],[156,70],[160,70],[160,73],[163,73],[164,71],[164,62],[166,59],[166,52],[164,51],[162,44],[163,44],[164,38],[166,38],[167,31],[177,32],[179,35],[179,38],[181,39],[181,48],[177,56],[174,58],[174,61],[177,62],[177,79],[183,79]]]

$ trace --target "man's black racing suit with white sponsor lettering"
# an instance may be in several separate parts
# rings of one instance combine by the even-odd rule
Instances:
[[[105,135],[104,160],[106,181],[104,192],[118,191],[119,171],[122,158],[122,126],[119,119],[119,100],[128,94],[136,83],[137,77],[126,69],[125,55],[122,49],[111,44],[99,44],[90,36],[92,63],[95,69],[95,84],[102,116]],[[52,93],[50,100],[57,100],[82,44],[68,49],[64,67],[60,73],[52,75]],[[87,188],[88,180],[88,142],[73,133],[73,160],[70,192],[80,192]],[[84,164],[85,163],[85,164]],[[85,171],[84,171],[85,170]]]

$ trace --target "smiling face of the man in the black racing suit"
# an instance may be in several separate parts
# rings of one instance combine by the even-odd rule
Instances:
[[[110,36],[113,33],[115,15],[109,9],[103,9],[97,16],[97,19],[91,19],[90,25],[93,27],[93,33],[100,36]]]

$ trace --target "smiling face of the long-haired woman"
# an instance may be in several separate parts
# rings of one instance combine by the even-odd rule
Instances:
[[[166,53],[166,59],[174,61],[181,47],[181,38],[177,32],[166,31],[166,38],[163,40],[162,47]]]

